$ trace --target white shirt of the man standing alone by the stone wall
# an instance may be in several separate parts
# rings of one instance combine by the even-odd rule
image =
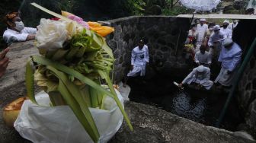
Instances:
[[[149,62],[148,46],[144,45],[142,49],[136,46],[132,52],[131,65],[146,65],[146,62]]]

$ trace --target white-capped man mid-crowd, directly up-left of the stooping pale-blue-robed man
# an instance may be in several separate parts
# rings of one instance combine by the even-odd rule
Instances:
[[[226,34],[220,31],[219,25],[213,27],[213,32],[214,33],[210,36],[208,41],[208,46],[210,46],[209,53],[211,56],[216,54],[219,56],[219,51],[222,48],[222,41],[226,39]]]

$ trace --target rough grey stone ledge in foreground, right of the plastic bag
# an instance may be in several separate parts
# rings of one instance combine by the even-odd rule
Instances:
[[[110,143],[117,142],[254,142],[242,135],[204,126],[200,123],[181,118],[160,110],[155,106],[127,102],[125,110],[132,125],[133,132],[123,122],[123,126]]]

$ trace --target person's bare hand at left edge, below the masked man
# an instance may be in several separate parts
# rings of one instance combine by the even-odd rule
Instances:
[[[8,66],[8,64],[10,63],[9,58],[5,57],[6,53],[9,51],[10,49],[4,49],[1,53],[0,53],[0,78],[5,74],[6,68]]]

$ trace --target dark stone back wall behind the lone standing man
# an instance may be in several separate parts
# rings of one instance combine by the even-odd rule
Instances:
[[[109,21],[115,28],[107,37],[108,45],[117,59],[114,81],[120,81],[130,67],[131,52],[140,39],[149,46],[149,71],[147,75],[187,75],[188,68],[182,56],[183,43],[190,27],[188,18],[178,17],[125,17]]]

